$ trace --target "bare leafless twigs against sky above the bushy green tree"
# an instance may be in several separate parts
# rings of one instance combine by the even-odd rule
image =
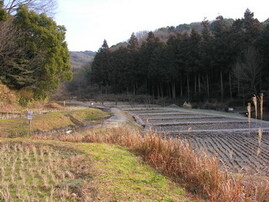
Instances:
[[[14,14],[20,5],[25,5],[37,13],[46,13],[48,16],[53,16],[56,9],[55,0],[7,0],[5,9],[9,14]]]

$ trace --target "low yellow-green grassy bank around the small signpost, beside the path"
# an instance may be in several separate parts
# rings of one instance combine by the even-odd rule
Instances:
[[[76,123],[70,120],[70,116],[78,122],[88,121],[88,117],[95,117],[99,122],[109,114],[98,109],[79,108],[78,110],[49,112],[41,115],[34,115],[32,120],[32,131],[46,132],[53,129],[75,126]],[[92,121],[87,124],[98,124],[98,121]],[[11,120],[0,120],[0,136],[21,137],[29,134],[29,121],[26,118]]]

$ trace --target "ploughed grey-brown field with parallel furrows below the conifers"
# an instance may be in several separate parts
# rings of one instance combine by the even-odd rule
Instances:
[[[156,105],[120,107],[146,131],[187,139],[195,150],[216,155],[229,171],[269,176],[269,122]]]

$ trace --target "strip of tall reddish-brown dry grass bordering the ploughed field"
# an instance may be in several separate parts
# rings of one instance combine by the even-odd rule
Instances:
[[[36,136],[55,139],[55,136]],[[219,168],[217,158],[195,152],[188,142],[164,139],[157,134],[141,135],[124,128],[102,134],[61,135],[56,139],[69,142],[97,142],[128,147],[141,155],[153,168],[184,185],[187,190],[210,201],[267,201],[269,182],[248,183]]]

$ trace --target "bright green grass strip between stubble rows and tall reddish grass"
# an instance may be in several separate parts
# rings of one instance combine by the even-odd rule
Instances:
[[[184,190],[169,182],[124,148],[107,144],[80,143],[98,162],[101,188],[119,201],[184,201]]]

